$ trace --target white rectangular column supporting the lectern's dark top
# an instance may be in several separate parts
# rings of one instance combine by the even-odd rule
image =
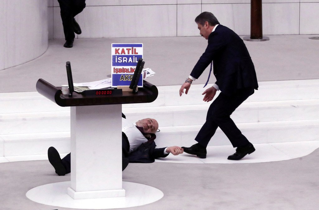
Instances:
[[[122,104],[71,107],[73,199],[124,197]]]

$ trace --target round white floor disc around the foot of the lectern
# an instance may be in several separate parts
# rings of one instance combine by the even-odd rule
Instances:
[[[72,199],[67,194],[70,181],[57,182],[32,188],[26,197],[34,202],[65,208],[110,209],[142,206],[161,199],[164,194],[159,189],[133,182],[122,182],[125,197]]]

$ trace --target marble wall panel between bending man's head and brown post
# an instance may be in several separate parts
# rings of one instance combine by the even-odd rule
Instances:
[[[250,4],[202,4],[202,11],[213,13],[220,24],[238,35],[250,34]]]

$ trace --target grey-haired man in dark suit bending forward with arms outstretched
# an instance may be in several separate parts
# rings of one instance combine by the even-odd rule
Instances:
[[[211,103],[206,122],[198,132],[191,147],[182,147],[184,152],[206,158],[206,147],[219,127],[228,137],[236,152],[229,160],[240,160],[255,151],[252,143],[241,134],[230,115],[245,101],[254,89],[257,90],[257,78],[254,64],[243,40],[231,29],[220,25],[211,12],[203,12],[195,19],[200,35],[208,40],[208,46],[197,64],[180,88],[180,96],[188,93],[192,81],[211,64],[216,82],[204,91],[203,101],[211,101],[218,90],[219,96]],[[209,78],[208,78],[209,79]],[[208,82],[208,80],[207,80]],[[206,83],[207,85],[207,83]],[[206,86],[205,85],[205,86]],[[204,87],[205,87],[204,86]]]

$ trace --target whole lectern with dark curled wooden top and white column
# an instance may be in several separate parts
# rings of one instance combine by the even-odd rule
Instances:
[[[39,79],[37,91],[71,109],[71,185],[73,199],[124,197],[122,188],[122,104],[150,103],[156,86],[144,81],[138,93],[63,95],[61,87]]]

